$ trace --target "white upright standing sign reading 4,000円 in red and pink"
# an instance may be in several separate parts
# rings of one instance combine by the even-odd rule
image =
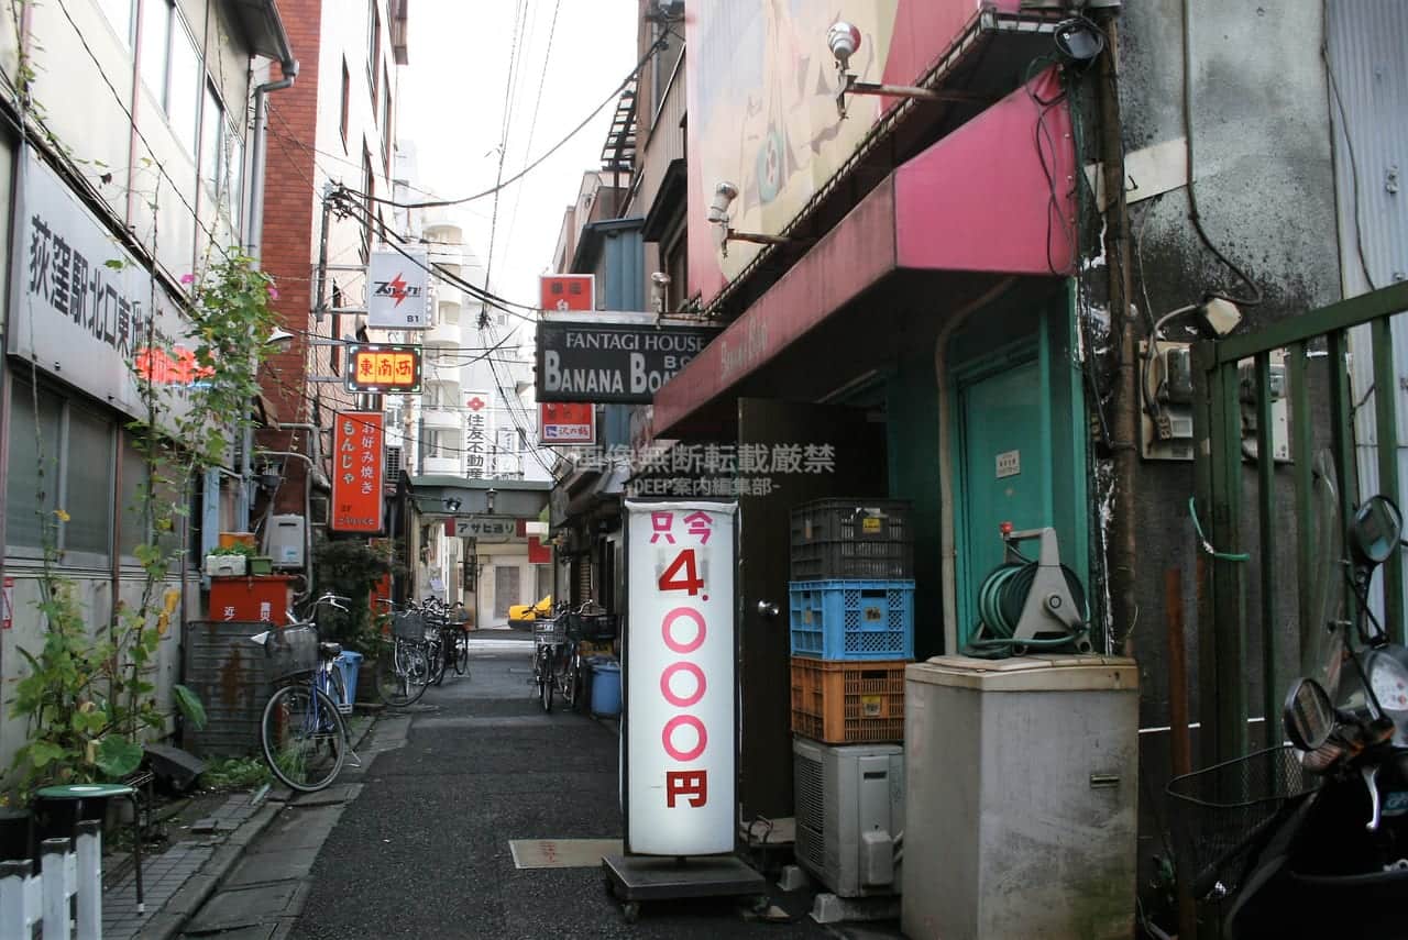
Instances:
[[[627,502],[625,849],[732,851],[732,502]]]

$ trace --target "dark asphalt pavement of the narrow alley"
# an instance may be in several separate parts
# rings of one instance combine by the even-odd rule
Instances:
[[[836,936],[805,916],[810,894],[783,895],[776,884],[773,902],[793,915],[786,922],[711,899],[645,903],[627,925],[598,864],[515,868],[510,840],[621,837],[615,726],[545,715],[532,698],[531,656],[531,639],[476,637],[469,678],[446,675],[404,712],[408,720],[393,712],[379,720],[365,766],[344,774],[345,804],[317,818],[308,815],[317,808],[286,811],[272,837],[318,849],[273,936]],[[322,832],[298,841],[313,829]],[[272,867],[279,849],[263,857]]]

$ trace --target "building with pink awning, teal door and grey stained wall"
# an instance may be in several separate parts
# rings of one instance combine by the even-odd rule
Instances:
[[[1055,529],[1094,650],[1139,664],[1142,780],[1121,782],[1121,805],[1125,822],[1138,806],[1148,884],[1166,812],[1140,796],[1173,773],[1170,702],[1197,722],[1207,691],[1170,678],[1166,584],[1180,574],[1197,609],[1205,559],[1193,418],[1140,343],[1187,343],[1212,301],[1257,331],[1402,280],[1402,11],[856,3],[839,62],[831,8],[676,6],[641,6],[642,55],[667,31],[687,42],[642,70],[639,156],[611,224],[643,220],[634,287],[659,272],[667,310],[721,328],[636,411],[636,445],[728,447],[741,484],[772,484],[739,485],[742,819],[793,812],[787,629],[767,612],[787,598],[790,509],[890,497],[911,504],[919,659],[973,639],[1004,523]],[[938,94],[848,91],[846,70]],[[559,270],[590,270],[566,260],[586,228],[562,239]],[[1362,359],[1356,401],[1373,388]],[[1245,418],[1243,450],[1255,433]],[[788,466],[822,449],[825,473]],[[584,497],[598,480],[567,474],[553,523],[560,577],[600,597],[618,557],[614,509]],[[1180,642],[1198,661],[1191,632]],[[1245,681],[1267,698],[1262,671]]]

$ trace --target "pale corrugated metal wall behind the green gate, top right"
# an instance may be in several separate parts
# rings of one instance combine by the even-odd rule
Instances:
[[[1408,280],[1408,4],[1331,0],[1325,7],[1335,201],[1346,297]],[[1398,383],[1398,477],[1408,481],[1408,322],[1393,324]],[[1350,335],[1362,494],[1378,493],[1369,328]],[[1360,404],[1363,402],[1363,404]],[[1390,494],[1404,505],[1402,494]]]

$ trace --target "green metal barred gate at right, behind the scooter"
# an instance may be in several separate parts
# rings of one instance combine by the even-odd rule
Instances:
[[[1378,490],[1397,498],[1398,432],[1394,345],[1390,321],[1408,310],[1408,283],[1398,283],[1329,307],[1309,311],[1256,334],[1194,343],[1194,476],[1195,518],[1201,516],[1204,552],[1198,602],[1200,699],[1202,764],[1249,750],[1247,723],[1264,716],[1269,740],[1280,740],[1281,695],[1293,677],[1280,660],[1309,616],[1308,591],[1316,557],[1311,533],[1312,456],[1329,447],[1339,477],[1340,515],[1357,505],[1354,415],[1373,407]],[[1354,353],[1373,357],[1373,386],[1350,390],[1350,329]],[[1367,342],[1366,342],[1367,341]],[[1277,494],[1273,453],[1271,353],[1286,355],[1286,397],[1290,405],[1290,498]],[[1247,362],[1250,376],[1242,366]],[[1321,364],[1322,363],[1322,364]],[[1250,381],[1247,381],[1250,379]],[[1243,415],[1255,409],[1256,453],[1247,460]],[[1319,415],[1316,412],[1321,412]],[[1284,488],[1284,487],[1283,487]],[[1290,502],[1290,505],[1287,505]],[[1253,514],[1255,507],[1255,514]],[[1294,567],[1278,554],[1294,540]],[[1247,609],[1250,578],[1257,578],[1257,609]],[[1294,606],[1291,606],[1294,605]],[[1384,567],[1384,626],[1404,640],[1404,578],[1401,564]],[[1249,661],[1249,646],[1260,663]],[[1247,701],[1249,675],[1262,680],[1257,705]]]

